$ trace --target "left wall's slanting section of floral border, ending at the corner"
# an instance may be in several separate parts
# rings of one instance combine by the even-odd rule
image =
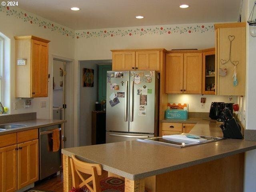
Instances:
[[[50,29],[51,31],[58,32],[67,37],[74,38],[75,32],[69,28],[66,28],[62,25],[56,24],[49,20],[46,20],[42,17],[36,16],[35,14],[26,12],[25,10],[8,7],[8,6],[0,6],[0,12],[6,13],[6,16],[14,16],[15,18],[21,19],[24,22],[30,22],[32,25],[37,25],[38,27],[44,29]]]

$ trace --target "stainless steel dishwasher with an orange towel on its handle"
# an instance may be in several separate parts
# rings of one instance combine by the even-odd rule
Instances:
[[[53,130],[60,131],[60,148],[52,151],[51,137]],[[61,170],[61,125],[42,127],[39,129],[39,179],[42,180]]]

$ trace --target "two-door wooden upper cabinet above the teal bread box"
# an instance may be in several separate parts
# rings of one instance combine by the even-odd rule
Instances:
[[[166,93],[202,93],[202,53],[166,54]]]

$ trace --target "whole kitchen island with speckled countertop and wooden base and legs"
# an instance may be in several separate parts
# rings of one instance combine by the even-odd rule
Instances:
[[[193,134],[220,136],[215,123],[201,121]],[[204,133],[204,134],[203,134]],[[103,170],[125,178],[126,192],[243,190],[244,152],[256,149],[255,141],[226,139],[185,148],[139,141],[62,149],[64,191],[71,189],[70,156],[98,163]]]

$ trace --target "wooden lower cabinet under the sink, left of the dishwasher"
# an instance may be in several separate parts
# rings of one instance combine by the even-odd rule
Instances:
[[[38,180],[38,135],[31,140],[31,132],[37,131],[18,132],[16,139],[24,142],[5,140],[0,148],[0,192],[14,192]],[[12,135],[0,136],[0,142]]]

